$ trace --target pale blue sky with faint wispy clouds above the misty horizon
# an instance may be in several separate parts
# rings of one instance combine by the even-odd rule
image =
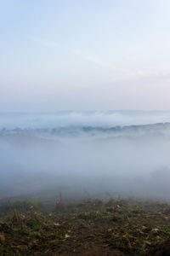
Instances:
[[[170,109],[170,0],[0,0],[0,112]]]

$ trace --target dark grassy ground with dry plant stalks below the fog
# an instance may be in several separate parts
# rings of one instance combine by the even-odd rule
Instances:
[[[0,255],[170,255],[170,205],[14,201],[1,208]]]

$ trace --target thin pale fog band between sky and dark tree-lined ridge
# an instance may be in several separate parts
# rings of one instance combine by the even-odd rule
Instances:
[[[0,129],[54,127],[113,127],[170,122],[170,111],[60,111],[56,113],[0,113]]]

